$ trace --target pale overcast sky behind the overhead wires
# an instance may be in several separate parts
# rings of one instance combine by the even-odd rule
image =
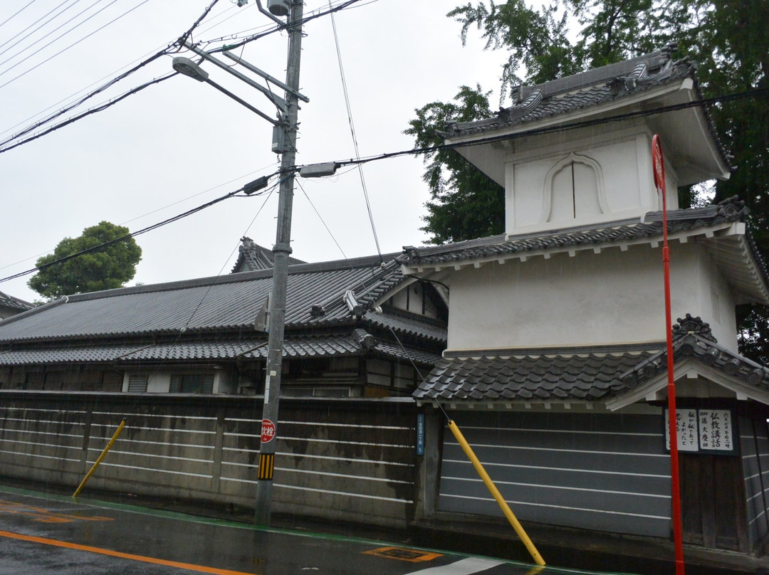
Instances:
[[[445,16],[458,3],[361,0],[335,14],[362,156],[412,148],[414,142],[402,131],[414,118],[414,108],[448,100],[460,85],[480,82],[498,93],[504,54],[484,52],[478,32],[462,48],[461,26]],[[0,140],[165,47],[208,4],[210,0],[2,2]],[[35,32],[64,8],[66,12]],[[305,15],[324,8],[328,2],[308,0]],[[85,24],[64,35],[88,16],[92,17]],[[69,18],[72,21],[65,24]],[[271,25],[255,0],[244,8],[220,0],[193,39],[228,38]],[[61,28],[54,31],[57,26]],[[331,17],[308,22],[304,32],[301,92],[310,102],[299,111],[297,162],[353,158]],[[242,58],[283,80],[286,47],[285,33],[274,34],[251,42]],[[203,67],[211,79],[273,115],[271,104],[258,91],[211,64]],[[164,56],[78,111],[170,69],[171,56]],[[51,252],[62,238],[76,237],[99,221],[138,230],[271,174],[279,157],[270,148],[271,124],[211,86],[178,75],[108,110],[0,153],[0,278],[34,267],[35,259]],[[422,171],[422,160],[416,157],[365,165],[383,253],[426,241],[418,230],[428,200]],[[333,178],[298,179],[298,183],[304,191],[295,189],[295,258],[328,261],[376,254],[357,170],[346,168]],[[241,236],[272,247],[276,213],[277,193],[266,204],[264,197],[232,198],[142,234],[137,241],[143,257],[129,285],[226,274],[237,258]],[[28,301],[38,299],[26,281],[28,277],[2,282],[0,291]]]

